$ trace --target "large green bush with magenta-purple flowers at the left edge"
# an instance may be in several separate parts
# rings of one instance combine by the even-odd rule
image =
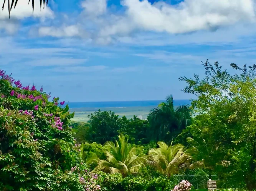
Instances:
[[[0,70],[0,190],[99,190],[75,144],[68,105]]]

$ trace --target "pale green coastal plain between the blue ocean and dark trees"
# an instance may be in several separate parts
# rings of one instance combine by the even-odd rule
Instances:
[[[90,115],[93,112],[96,112],[97,110],[101,111],[113,111],[116,113],[116,115],[119,115],[119,117],[126,116],[127,118],[132,118],[134,115],[142,115],[143,119],[147,118],[147,115],[149,114],[150,110],[153,108],[153,106],[147,106],[147,107],[83,107],[83,108],[71,108],[70,112],[75,112],[74,121],[88,121],[88,115]]]

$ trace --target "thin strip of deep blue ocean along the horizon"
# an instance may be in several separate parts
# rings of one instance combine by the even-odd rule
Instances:
[[[108,102],[68,102],[69,108],[83,107],[157,107],[165,100],[143,100],[143,101],[108,101]],[[190,100],[173,100],[174,106],[189,105]]]

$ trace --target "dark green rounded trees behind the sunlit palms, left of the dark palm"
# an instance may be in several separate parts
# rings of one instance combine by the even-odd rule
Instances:
[[[119,134],[129,137],[129,142],[134,144],[147,144],[150,142],[148,131],[149,122],[135,117],[127,119],[125,116],[119,118],[111,111],[97,111],[88,115],[90,118],[90,127],[81,124],[84,127],[83,139],[89,142],[104,144],[107,141],[115,141]],[[80,131],[80,130],[79,130]],[[76,131],[75,131],[76,132]],[[80,133],[79,133],[80,134]],[[82,140],[81,140],[82,141]]]

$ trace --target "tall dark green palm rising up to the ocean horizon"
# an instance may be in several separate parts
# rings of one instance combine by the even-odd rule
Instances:
[[[157,108],[153,108],[149,113],[149,123],[152,136],[156,136],[156,141],[167,141],[180,133],[182,129],[190,125],[191,110],[187,105],[174,108],[173,97],[168,95],[166,102],[162,102]]]

